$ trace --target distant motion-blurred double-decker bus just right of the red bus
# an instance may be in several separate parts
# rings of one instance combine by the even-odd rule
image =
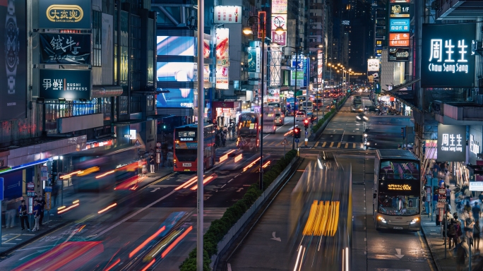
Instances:
[[[258,150],[260,143],[258,114],[242,113],[238,117],[237,147],[244,150]]]

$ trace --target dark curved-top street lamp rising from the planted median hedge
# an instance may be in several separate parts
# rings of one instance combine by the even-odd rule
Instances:
[[[258,188],[263,191],[263,94],[265,90],[263,89],[263,71],[265,69],[265,23],[263,23],[263,20],[258,17],[258,16],[250,16],[248,20],[246,20],[246,23],[249,23],[249,21],[252,18],[257,18],[258,19],[258,25],[260,26],[261,29],[261,54],[262,54],[262,59],[261,59],[261,107],[260,107],[260,126],[261,126],[261,131],[260,131],[260,176],[258,180]],[[280,29],[277,28],[275,30],[280,32]],[[283,30],[282,30],[283,31]],[[251,30],[251,27],[248,25],[243,28],[243,33],[245,35],[251,35],[253,34],[253,30]]]

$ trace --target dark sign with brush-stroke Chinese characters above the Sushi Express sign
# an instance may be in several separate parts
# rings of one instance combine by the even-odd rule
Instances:
[[[40,63],[90,64],[89,34],[40,34]]]

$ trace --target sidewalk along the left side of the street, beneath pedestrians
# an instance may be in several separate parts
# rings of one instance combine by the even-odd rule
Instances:
[[[138,183],[138,189],[143,188],[144,186],[148,186],[153,181],[157,179],[161,179],[164,176],[167,176],[173,172],[172,167],[163,167],[156,170],[154,174],[146,174],[146,178]],[[64,204],[71,203],[73,200],[78,200],[78,195],[74,193],[72,186],[67,186],[64,188]],[[59,199],[57,200],[60,203],[60,195]],[[35,241],[36,239],[40,239],[40,237],[49,234],[50,232],[64,227],[64,225],[73,222],[73,219],[69,219],[66,216],[58,216],[54,215],[56,207],[52,207],[50,214],[48,214],[47,210],[44,212],[44,222],[43,227],[40,227],[40,231],[28,231],[25,226],[25,230],[22,231],[20,227],[20,218],[18,216],[15,217],[15,223],[13,227],[8,225],[8,228],[2,226],[1,228],[1,246],[0,246],[0,256],[5,256],[12,251],[21,248],[22,246],[27,245],[28,243]],[[3,219],[2,219],[3,220]],[[35,220],[32,215],[29,218],[30,228],[34,227]],[[2,223],[5,223],[2,221]]]

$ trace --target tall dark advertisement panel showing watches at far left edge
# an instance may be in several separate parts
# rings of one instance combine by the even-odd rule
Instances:
[[[25,0],[0,1],[0,121],[25,119],[27,30]]]

